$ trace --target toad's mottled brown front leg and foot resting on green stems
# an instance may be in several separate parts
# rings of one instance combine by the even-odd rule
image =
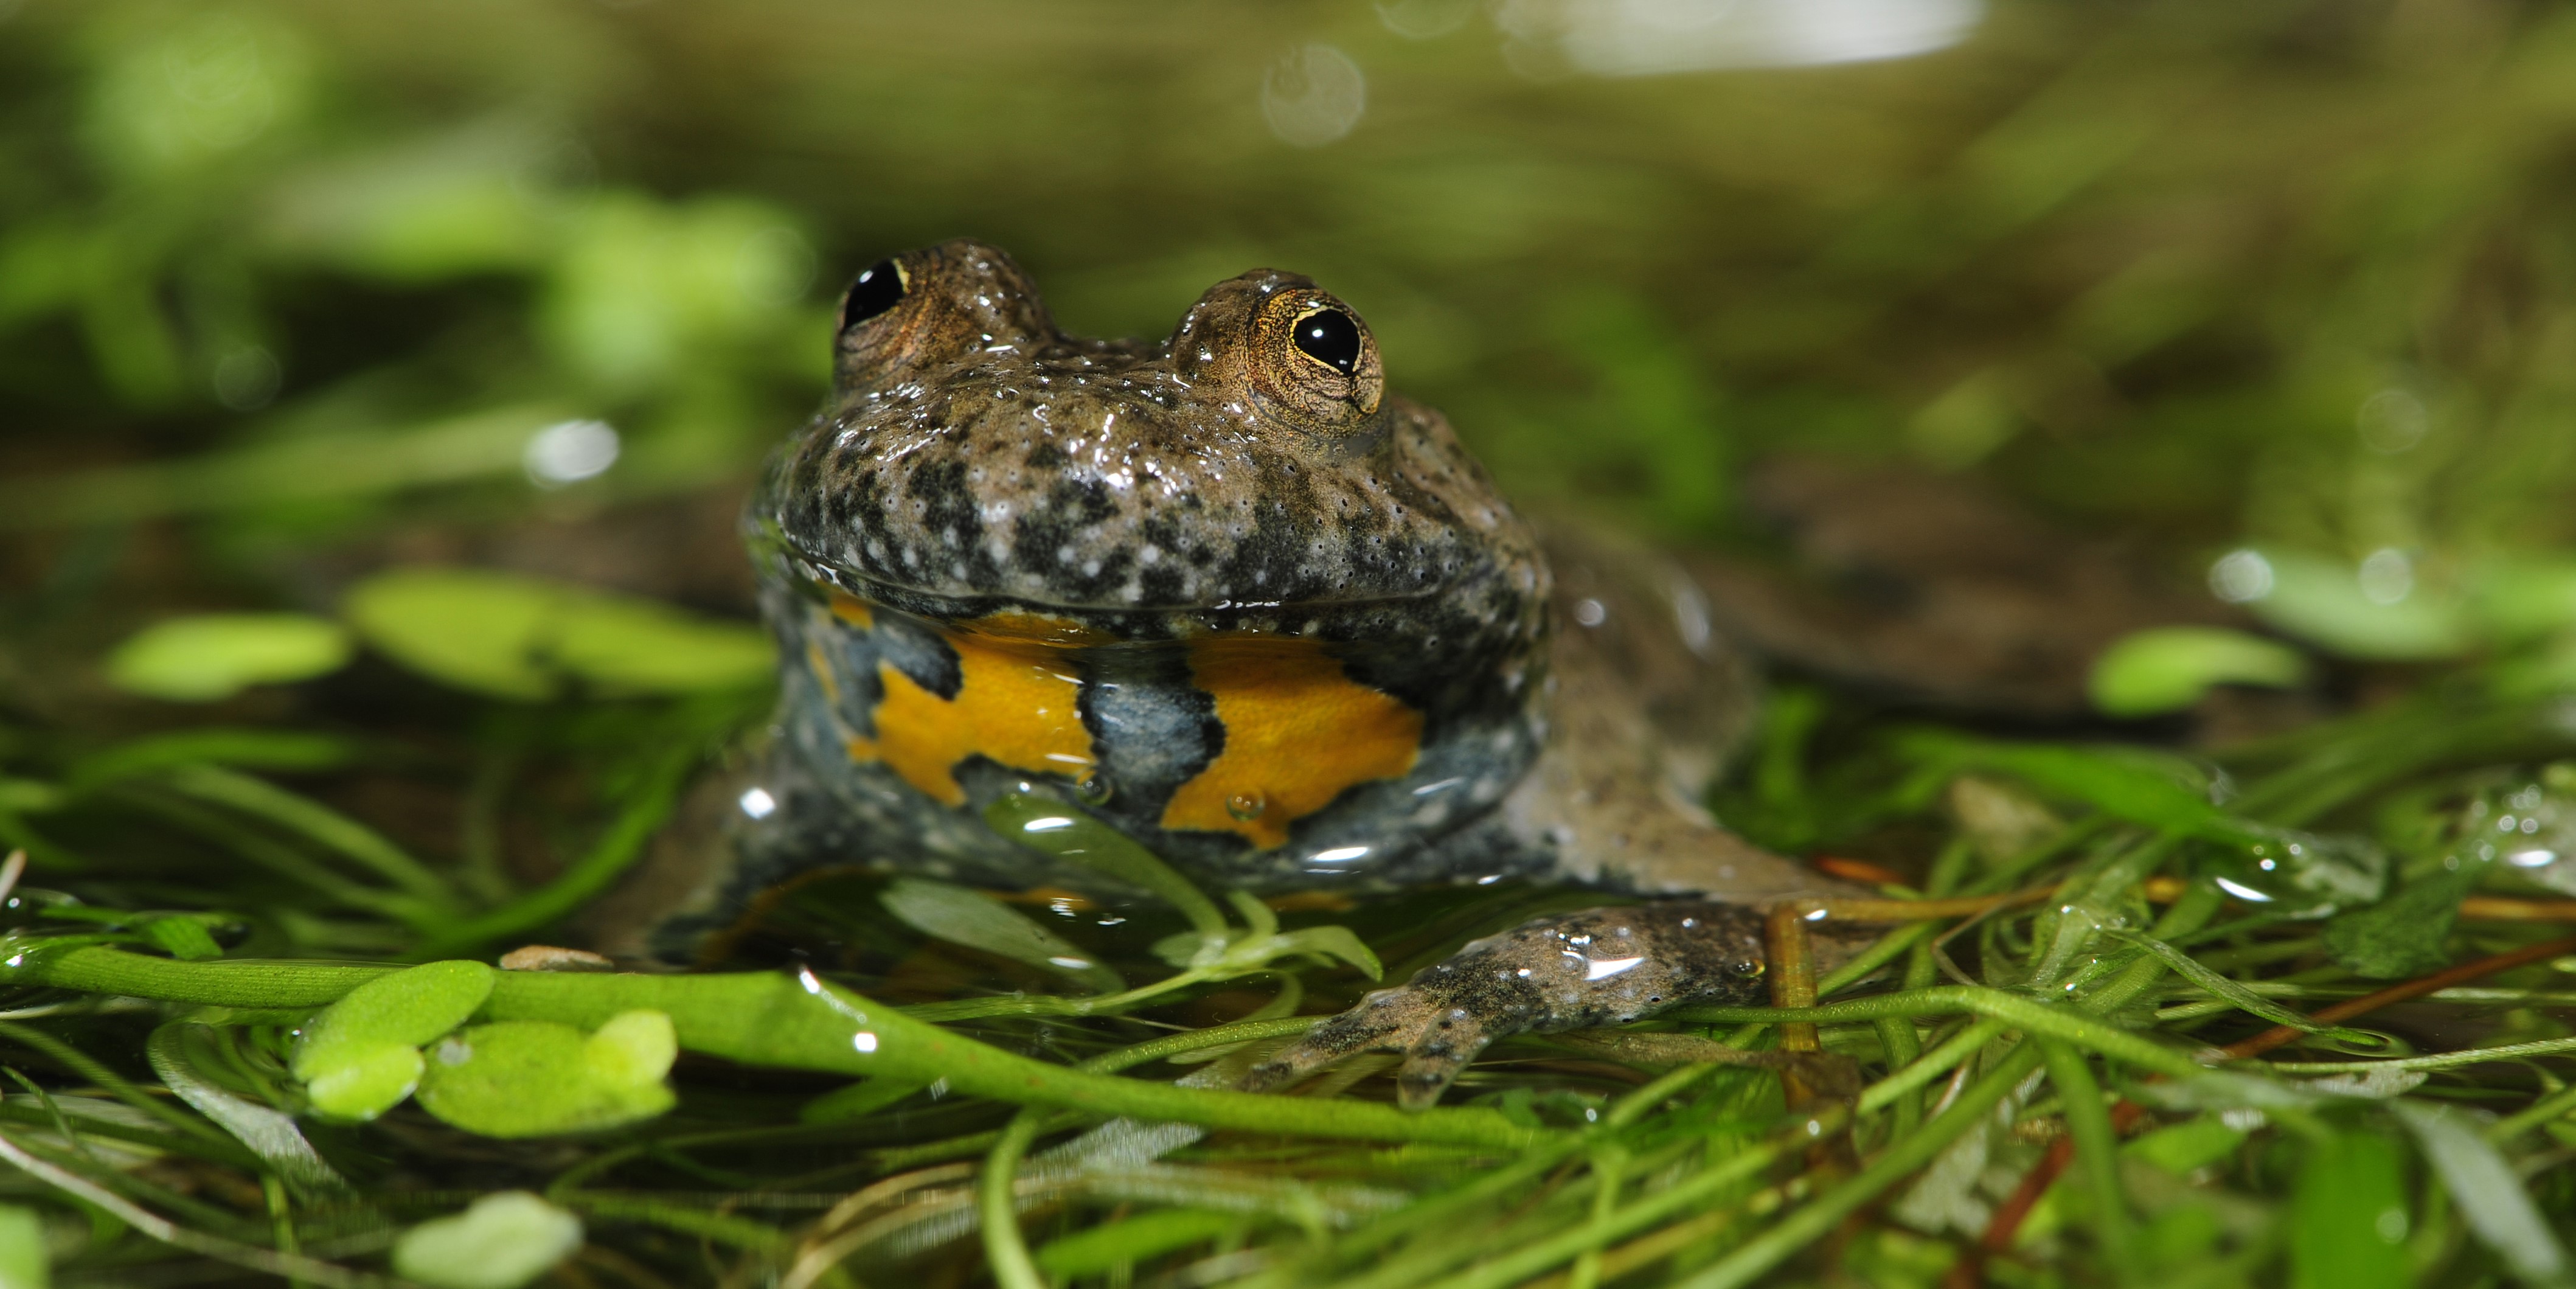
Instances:
[[[1744,905],[1674,900],[1540,918],[1370,993],[1255,1065],[1244,1088],[1278,1088],[1352,1052],[1401,1052],[1396,1096],[1422,1109],[1510,1034],[1636,1021],[1687,1000],[1759,1003],[1762,962],[1762,915]]]

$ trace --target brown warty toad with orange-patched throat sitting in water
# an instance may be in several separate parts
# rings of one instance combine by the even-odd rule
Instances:
[[[1236,889],[1700,897],[1479,941],[1255,1072],[1404,1049],[1427,1103],[1499,1034],[1754,998],[1754,910],[1834,889],[1695,804],[1749,683],[1687,583],[1543,541],[1293,273],[1146,345],[1059,333],[987,245],[878,263],[747,534],[778,737],[662,951],[817,864],[1097,887],[984,825],[1030,784]]]

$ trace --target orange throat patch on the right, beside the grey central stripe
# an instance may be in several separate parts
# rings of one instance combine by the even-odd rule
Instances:
[[[1352,784],[1412,773],[1422,750],[1422,714],[1352,681],[1314,639],[1200,637],[1190,681],[1216,699],[1226,748],[1172,794],[1164,828],[1242,833],[1267,851]]]

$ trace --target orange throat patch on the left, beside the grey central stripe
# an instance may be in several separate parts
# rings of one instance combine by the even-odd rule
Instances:
[[[1030,614],[994,614],[966,632],[945,632],[958,655],[956,699],[878,663],[886,696],[876,704],[876,737],[853,737],[850,758],[884,761],[943,804],[966,804],[956,768],[969,755],[1079,779],[1092,768],[1092,735],[1074,706],[1082,678],[1066,663],[1066,644],[1079,634],[1079,626]]]

